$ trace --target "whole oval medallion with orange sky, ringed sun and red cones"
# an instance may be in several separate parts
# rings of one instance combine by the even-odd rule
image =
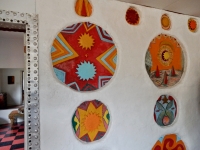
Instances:
[[[184,71],[184,55],[178,41],[166,34],[155,37],[147,50],[145,66],[157,87],[175,85]]]

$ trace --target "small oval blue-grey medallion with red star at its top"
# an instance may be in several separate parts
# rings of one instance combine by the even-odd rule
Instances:
[[[159,126],[168,126],[173,123],[177,114],[175,99],[170,95],[161,95],[154,107],[154,120]]]

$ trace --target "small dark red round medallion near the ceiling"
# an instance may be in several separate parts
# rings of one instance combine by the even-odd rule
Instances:
[[[139,16],[138,12],[133,7],[130,7],[126,11],[126,21],[131,25],[139,24],[140,16]]]

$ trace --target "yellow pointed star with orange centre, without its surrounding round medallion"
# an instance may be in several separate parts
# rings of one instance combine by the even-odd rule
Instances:
[[[79,138],[88,134],[91,141],[94,141],[98,132],[106,132],[106,128],[103,123],[102,107],[95,106],[90,103],[87,110],[78,109],[80,116],[80,134]]]

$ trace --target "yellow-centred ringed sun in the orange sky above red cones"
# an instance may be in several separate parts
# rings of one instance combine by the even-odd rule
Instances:
[[[173,60],[173,51],[170,46],[162,45],[158,52],[158,60],[163,66],[169,66]]]

